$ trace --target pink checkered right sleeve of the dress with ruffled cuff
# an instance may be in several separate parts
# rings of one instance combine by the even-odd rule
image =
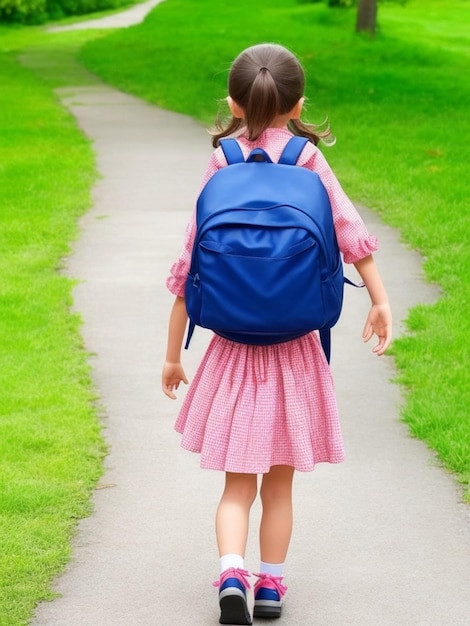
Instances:
[[[370,235],[357,209],[338,182],[325,157],[313,144],[304,150],[306,160],[299,165],[316,172],[330,198],[336,238],[345,263],[356,263],[378,250],[378,240]],[[302,157],[301,157],[302,159]]]

